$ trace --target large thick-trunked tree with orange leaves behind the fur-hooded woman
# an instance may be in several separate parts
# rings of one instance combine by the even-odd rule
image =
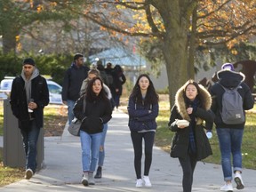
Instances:
[[[252,0],[45,0],[54,9],[68,10],[108,30],[109,36],[141,36],[148,50],[161,55],[166,66],[171,104],[175,92],[194,78],[198,46],[232,49],[255,30]],[[122,36],[120,36],[122,37]],[[159,52],[160,51],[160,52]],[[158,54],[159,53],[159,54]],[[151,56],[152,57],[152,56]],[[153,58],[154,59],[154,58]]]

